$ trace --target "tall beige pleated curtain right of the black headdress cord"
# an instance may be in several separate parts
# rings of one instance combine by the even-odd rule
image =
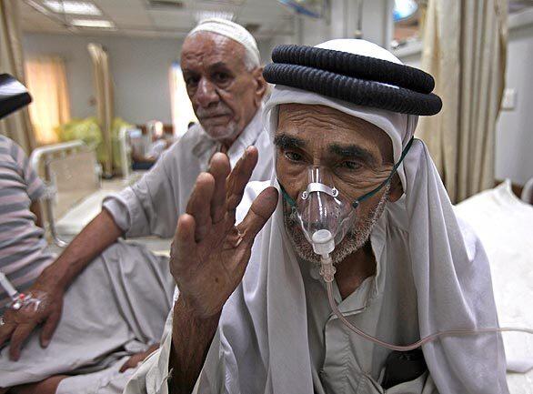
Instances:
[[[494,186],[494,144],[505,86],[507,0],[429,0],[422,67],[444,106],[417,136],[429,147],[452,202]]]

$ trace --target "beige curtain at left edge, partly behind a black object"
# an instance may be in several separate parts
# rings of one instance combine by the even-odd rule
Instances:
[[[19,0],[0,0],[0,73],[11,74],[25,84],[18,6]],[[26,154],[35,147],[34,131],[26,108],[0,120],[0,134],[13,139]]]

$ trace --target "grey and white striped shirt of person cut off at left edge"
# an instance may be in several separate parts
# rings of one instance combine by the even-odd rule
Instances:
[[[55,256],[47,250],[45,231],[35,226],[32,201],[45,192],[22,148],[0,136],[0,271],[24,292]],[[0,287],[0,314],[9,301]]]

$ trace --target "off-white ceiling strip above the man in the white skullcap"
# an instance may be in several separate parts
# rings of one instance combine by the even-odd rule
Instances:
[[[71,35],[133,35],[184,37],[195,25],[199,12],[229,12],[256,38],[292,35],[292,12],[277,0],[91,0],[100,16],[55,14],[45,0],[21,1],[22,28],[27,32]],[[88,1],[88,0],[84,0]],[[38,10],[40,9],[40,11]],[[72,27],[72,19],[107,19],[115,29]]]

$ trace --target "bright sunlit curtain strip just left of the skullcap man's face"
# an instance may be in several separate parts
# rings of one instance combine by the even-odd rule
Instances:
[[[174,135],[180,137],[186,133],[189,122],[197,123],[198,119],[186,92],[181,67],[176,62],[170,67],[170,102]]]

